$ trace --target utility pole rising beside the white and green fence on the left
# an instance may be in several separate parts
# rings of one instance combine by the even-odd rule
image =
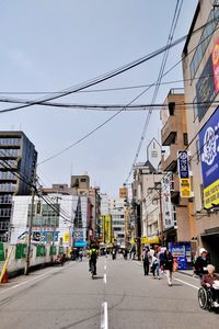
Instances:
[[[30,270],[30,258],[31,258],[31,237],[32,237],[32,226],[34,218],[34,197],[35,197],[35,183],[36,183],[36,169],[34,169],[33,173],[33,183],[32,183],[32,201],[31,201],[31,215],[30,215],[30,224],[28,224],[28,238],[27,238],[27,250],[26,250],[26,263],[24,268],[24,274],[28,275]]]

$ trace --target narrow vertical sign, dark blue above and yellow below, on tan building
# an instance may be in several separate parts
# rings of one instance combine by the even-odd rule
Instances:
[[[180,150],[177,152],[177,167],[181,197],[191,197],[189,162],[188,154],[186,150]]]

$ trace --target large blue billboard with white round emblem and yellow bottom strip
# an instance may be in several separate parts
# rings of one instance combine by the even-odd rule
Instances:
[[[204,206],[219,204],[219,107],[199,132]]]

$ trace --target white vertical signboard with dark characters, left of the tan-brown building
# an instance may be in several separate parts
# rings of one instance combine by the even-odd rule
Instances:
[[[172,173],[168,172],[162,179],[162,213],[163,213],[163,229],[169,229],[174,226],[174,216],[171,204],[171,186]]]

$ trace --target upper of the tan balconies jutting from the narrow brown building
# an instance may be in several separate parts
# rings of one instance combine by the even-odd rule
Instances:
[[[163,146],[169,146],[174,143],[177,134],[176,117],[170,115],[165,125],[161,129],[161,143]]]

